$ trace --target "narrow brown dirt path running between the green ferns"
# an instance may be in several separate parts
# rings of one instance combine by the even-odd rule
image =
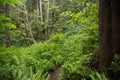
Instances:
[[[57,67],[50,75],[50,79],[49,80],[59,80],[59,75],[61,72],[61,68],[62,66]]]

